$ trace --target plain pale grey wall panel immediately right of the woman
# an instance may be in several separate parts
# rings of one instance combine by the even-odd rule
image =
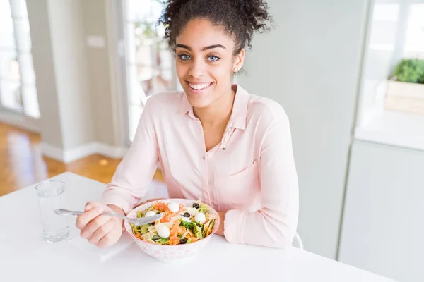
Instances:
[[[367,0],[270,0],[278,27],[255,37],[249,92],[288,113],[305,248],[335,258],[365,37]]]

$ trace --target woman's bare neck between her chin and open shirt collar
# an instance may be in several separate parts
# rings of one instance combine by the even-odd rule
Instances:
[[[202,125],[214,127],[222,123],[226,124],[230,120],[234,98],[235,90],[231,87],[230,93],[223,94],[209,106],[194,108],[194,115],[199,118]]]

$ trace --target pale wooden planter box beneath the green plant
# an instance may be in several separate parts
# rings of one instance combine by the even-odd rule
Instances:
[[[424,115],[424,84],[389,80],[385,108]]]

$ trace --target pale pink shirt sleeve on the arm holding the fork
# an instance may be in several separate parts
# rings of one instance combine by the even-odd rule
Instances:
[[[158,148],[153,127],[153,105],[149,99],[136,130],[134,141],[117,167],[102,195],[102,203],[121,207],[125,213],[146,195],[158,165]]]

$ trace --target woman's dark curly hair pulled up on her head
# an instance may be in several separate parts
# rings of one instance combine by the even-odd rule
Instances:
[[[176,39],[189,20],[207,18],[222,26],[235,41],[234,54],[251,48],[253,33],[270,30],[268,4],[263,0],[168,0],[159,23],[165,25],[165,39],[175,51]]]

